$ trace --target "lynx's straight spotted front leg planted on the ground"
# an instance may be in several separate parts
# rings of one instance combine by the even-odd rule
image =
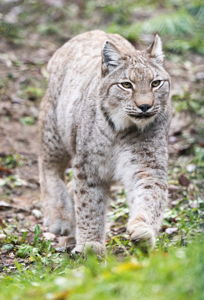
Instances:
[[[74,202],[76,211],[76,240],[74,252],[84,247],[100,255],[106,253],[105,217],[107,190],[87,179],[83,168],[74,168]]]

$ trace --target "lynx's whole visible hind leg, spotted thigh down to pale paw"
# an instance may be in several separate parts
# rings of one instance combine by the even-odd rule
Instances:
[[[45,102],[47,100],[47,102]],[[62,151],[63,144],[48,99],[42,103],[41,155],[39,176],[43,200],[44,222],[55,234],[73,235],[75,230],[74,207],[67,191],[65,169],[69,157]]]

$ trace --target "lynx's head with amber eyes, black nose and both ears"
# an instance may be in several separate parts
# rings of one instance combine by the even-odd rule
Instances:
[[[159,36],[147,49],[129,53],[106,41],[101,55],[101,109],[112,127],[144,130],[156,120],[168,125],[171,84]]]

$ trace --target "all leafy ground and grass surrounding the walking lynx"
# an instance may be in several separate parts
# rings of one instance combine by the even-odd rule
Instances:
[[[47,88],[46,65],[66,41],[94,29],[118,33],[137,49],[149,46],[156,34],[163,42],[172,79],[170,203],[150,259],[128,240],[129,208],[121,187],[112,189],[106,246],[122,263],[111,257],[102,263],[94,256],[87,261],[69,257],[42,237],[37,121]],[[6,226],[3,233],[0,229],[2,299],[124,299],[130,293],[130,299],[203,300],[203,38],[202,0],[0,1],[0,200],[6,201],[0,205],[0,225]],[[42,233],[34,231],[36,224]],[[58,241],[54,237],[52,247]]]

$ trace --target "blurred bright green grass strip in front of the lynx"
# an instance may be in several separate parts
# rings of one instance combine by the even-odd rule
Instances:
[[[138,262],[128,256],[100,261],[89,253],[64,257],[58,268],[39,262],[25,270],[16,262],[15,274],[2,274],[1,300],[20,299],[192,299],[204,298],[204,241],[198,238],[186,248],[161,250]]]

